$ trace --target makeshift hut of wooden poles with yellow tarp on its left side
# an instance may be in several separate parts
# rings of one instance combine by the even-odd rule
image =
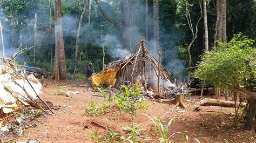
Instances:
[[[110,63],[102,72],[93,75],[92,83],[94,87],[137,83],[146,88],[156,88],[158,73],[161,83],[170,83],[171,73],[163,65],[158,65],[158,60],[151,55],[144,40],[140,40],[124,58]]]

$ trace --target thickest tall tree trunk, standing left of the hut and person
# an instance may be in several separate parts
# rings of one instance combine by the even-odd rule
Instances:
[[[60,0],[54,0],[55,11],[55,65],[53,76],[56,80],[66,79],[65,49],[62,31],[62,10]]]

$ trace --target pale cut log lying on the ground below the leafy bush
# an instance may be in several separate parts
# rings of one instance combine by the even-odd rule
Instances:
[[[239,103],[237,103],[238,105]],[[218,99],[210,99],[210,98],[205,98],[201,100],[200,105],[208,105],[208,106],[221,106],[221,107],[234,107],[235,102],[234,101],[227,101],[227,100],[218,100]],[[245,106],[246,103],[241,103],[241,106]]]

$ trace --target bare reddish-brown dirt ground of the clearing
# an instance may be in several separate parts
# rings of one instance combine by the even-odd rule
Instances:
[[[102,127],[91,124],[91,121],[109,126],[111,130],[127,137],[123,127],[130,125],[132,117],[129,113],[109,112],[99,117],[90,117],[83,114],[90,101],[95,103],[103,101],[102,97],[92,96],[94,92],[87,91],[86,87],[74,87],[75,85],[85,85],[86,81],[57,82],[59,87],[64,86],[68,91],[79,92],[79,94],[72,94],[72,99],[57,95],[58,90],[54,80],[46,79],[45,83],[48,83],[48,87],[42,87],[43,92],[41,93],[44,100],[52,101],[54,106],[69,105],[71,107],[55,110],[55,116],[42,115],[36,118],[31,124],[36,122],[43,122],[43,124],[25,130],[22,137],[19,137],[16,141],[36,139],[40,142],[94,142],[95,139],[91,135],[96,131],[104,139],[107,131]],[[156,103],[147,99],[146,103],[149,108],[147,110],[137,110],[133,122],[142,123],[140,128],[145,129],[143,134],[152,138],[151,141],[147,142],[156,142],[158,137],[154,132],[153,123],[144,114],[156,117],[164,115],[166,124],[171,118],[176,118],[175,124],[170,126],[169,135],[175,132],[185,132],[186,135],[191,136],[190,141],[192,142],[195,142],[194,138],[200,142],[255,142],[256,137],[245,130],[244,124],[240,124],[239,128],[232,128],[234,108],[200,106],[197,98],[191,100],[187,104],[186,111],[182,112],[180,109],[172,110],[173,105]],[[196,107],[199,107],[200,111],[194,111]],[[85,126],[88,128],[83,129]],[[181,138],[181,134],[176,134],[171,140],[177,142]]]

